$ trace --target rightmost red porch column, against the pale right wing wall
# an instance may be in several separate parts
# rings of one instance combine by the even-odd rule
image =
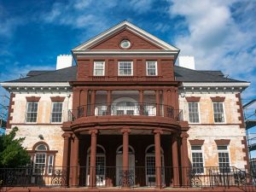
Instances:
[[[183,172],[183,186],[188,185],[188,177],[187,172],[189,171],[189,156],[188,156],[188,143],[187,139],[189,137],[189,134],[185,131],[182,132],[181,136],[182,138],[182,146],[181,146],[181,153],[183,154],[183,161],[182,161],[182,172]]]

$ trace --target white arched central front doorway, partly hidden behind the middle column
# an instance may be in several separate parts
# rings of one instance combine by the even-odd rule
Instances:
[[[116,185],[122,185],[123,175],[123,145],[119,146],[116,150]],[[129,145],[129,172],[131,172],[131,180],[135,183],[135,152],[134,149]]]

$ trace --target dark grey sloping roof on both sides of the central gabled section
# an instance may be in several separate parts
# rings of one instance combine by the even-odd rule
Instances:
[[[236,79],[225,78],[224,74],[220,71],[197,71],[184,67],[174,67],[175,77],[177,81],[182,82],[224,82],[224,83],[235,83],[235,82],[246,82]],[[42,73],[40,73],[42,72]],[[38,73],[38,74],[36,74]],[[6,82],[30,82],[30,83],[47,83],[47,82],[69,82],[75,81],[77,75],[77,67],[67,67],[55,71],[31,71],[27,73],[29,77],[22,79],[15,79]],[[30,75],[29,75],[30,74]],[[32,75],[31,75],[32,74]]]

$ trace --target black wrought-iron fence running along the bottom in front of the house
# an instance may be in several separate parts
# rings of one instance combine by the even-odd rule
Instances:
[[[199,172],[200,168],[200,172]],[[0,169],[1,187],[157,187],[231,188],[255,191],[256,180],[236,167],[154,167],[136,166],[123,170],[117,166],[20,167]],[[202,170],[201,170],[202,169]],[[91,173],[91,177],[90,177]],[[157,174],[160,174],[157,179]]]

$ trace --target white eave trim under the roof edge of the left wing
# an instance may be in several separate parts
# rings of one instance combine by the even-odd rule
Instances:
[[[0,83],[3,87],[69,87],[69,83],[28,83],[28,82],[3,82]]]

